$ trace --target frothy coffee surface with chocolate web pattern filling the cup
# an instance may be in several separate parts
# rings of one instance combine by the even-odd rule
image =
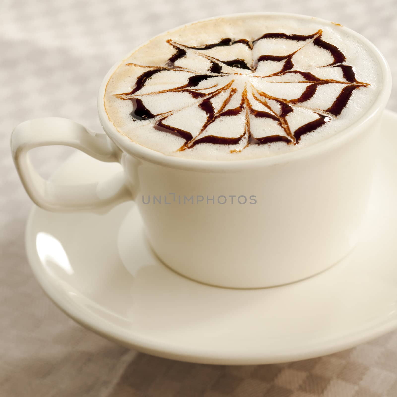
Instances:
[[[376,98],[378,68],[337,24],[220,17],[143,44],[114,72],[104,101],[120,133],[164,154],[258,158],[348,127]]]

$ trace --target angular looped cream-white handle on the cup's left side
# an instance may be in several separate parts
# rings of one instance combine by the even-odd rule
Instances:
[[[69,119],[48,117],[17,125],[11,137],[13,160],[25,190],[39,207],[53,212],[89,211],[132,200],[124,172],[108,181],[84,185],[56,185],[43,179],[27,154],[30,149],[50,145],[71,146],[106,162],[119,162],[121,156],[121,150],[105,134],[93,133]]]

